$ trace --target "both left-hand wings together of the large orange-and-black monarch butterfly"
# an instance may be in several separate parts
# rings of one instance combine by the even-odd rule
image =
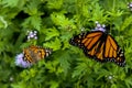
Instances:
[[[74,36],[69,43],[72,45],[79,46],[80,48],[82,48],[87,56],[94,57],[97,61],[102,62],[103,51],[101,51],[101,48],[105,47],[105,44],[101,45],[102,41],[100,40],[102,34],[103,33],[101,31],[81,33],[79,35]]]

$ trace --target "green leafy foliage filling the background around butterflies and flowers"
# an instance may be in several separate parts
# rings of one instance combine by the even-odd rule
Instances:
[[[0,0],[0,88],[131,88],[131,13],[128,0]],[[124,50],[125,67],[91,61],[69,44],[81,29],[92,30],[95,21],[110,25]],[[20,68],[14,59],[32,44],[26,41],[29,30],[38,32],[33,44],[53,53]]]

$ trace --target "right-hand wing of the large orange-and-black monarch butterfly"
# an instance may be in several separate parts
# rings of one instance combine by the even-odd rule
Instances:
[[[111,35],[108,35],[106,40],[105,58],[120,66],[125,65],[124,53]]]

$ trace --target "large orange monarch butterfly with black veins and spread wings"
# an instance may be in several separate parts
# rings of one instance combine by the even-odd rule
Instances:
[[[102,29],[101,29],[102,30]],[[70,38],[69,43],[84,50],[86,56],[99,62],[114,62],[125,65],[124,53],[116,40],[105,31],[84,32]]]

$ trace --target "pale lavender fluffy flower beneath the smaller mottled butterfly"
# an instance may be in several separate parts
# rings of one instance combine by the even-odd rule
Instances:
[[[24,57],[23,53],[18,54],[18,55],[15,56],[15,65],[16,65],[16,66],[20,66],[20,67],[23,67],[23,68],[31,67],[32,64],[29,63],[29,62],[25,62],[25,61],[23,59],[23,57]]]

